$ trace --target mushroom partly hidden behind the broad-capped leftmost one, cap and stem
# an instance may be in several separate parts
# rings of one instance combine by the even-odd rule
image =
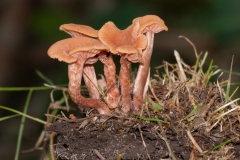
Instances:
[[[72,37],[94,37],[98,36],[98,31],[93,29],[92,27],[86,25],[78,25],[78,24],[63,24],[60,26],[60,30],[65,31],[66,33],[70,34]],[[96,88],[97,84],[97,77],[95,73],[94,66],[92,65],[98,60],[97,57],[91,58],[86,61],[86,65],[84,65],[83,70],[83,78],[85,84],[87,86],[88,92],[90,97],[100,99],[100,93]]]

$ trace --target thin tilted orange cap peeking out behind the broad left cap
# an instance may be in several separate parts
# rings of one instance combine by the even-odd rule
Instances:
[[[72,37],[98,37],[98,31],[94,28],[86,25],[79,25],[79,24],[63,24],[59,28],[61,31],[65,31],[70,34]]]

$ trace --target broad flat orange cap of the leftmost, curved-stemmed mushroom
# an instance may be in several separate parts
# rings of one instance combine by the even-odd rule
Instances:
[[[48,55],[51,58],[57,58],[59,61],[73,63],[78,59],[74,56],[76,52],[90,52],[92,53],[90,56],[94,56],[101,51],[108,51],[108,47],[99,40],[88,37],[73,37],[54,43],[48,49]]]

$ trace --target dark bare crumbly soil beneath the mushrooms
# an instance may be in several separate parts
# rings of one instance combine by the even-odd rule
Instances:
[[[84,130],[79,129],[79,123],[76,122],[59,120],[51,125],[48,131],[58,133],[57,157],[96,160],[99,157],[94,150],[97,150],[107,160],[116,160],[118,157],[122,160],[148,159],[148,156],[152,160],[169,158],[166,143],[156,134],[156,124],[137,119],[124,124],[121,119],[111,119],[105,123],[92,123]],[[186,134],[176,136],[169,129],[167,137],[176,158],[189,159],[192,149]]]

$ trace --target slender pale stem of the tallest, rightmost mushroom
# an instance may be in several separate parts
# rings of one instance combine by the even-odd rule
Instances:
[[[136,112],[140,111],[141,106],[143,104],[143,100],[148,88],[147,78],[149,77],[148,75],[150,74],[149,68],[153,50],[154,34],[151,32],[147,32],[146,37],[148,39],[148,44],[147,48],[142,53],[143,64],[139,64],[133,88],[133,103],[134,110]]]

